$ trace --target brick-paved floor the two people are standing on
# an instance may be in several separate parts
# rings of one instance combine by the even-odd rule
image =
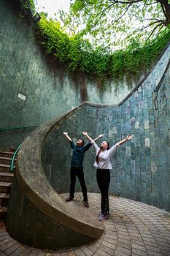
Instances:
[[[63,199],[65,195],[61,195]],[[77,211],[100,211],[100,194],[88,193],[90,207],[85,208],[82,193],[76,193],[69,204]],[[0,256],[162,256],[170,255],[170,214],[154,206],[109,196],[109,218],[98,241],[84,246],[58,251],[36,249],[11,238],[5,228],[0,230]]]

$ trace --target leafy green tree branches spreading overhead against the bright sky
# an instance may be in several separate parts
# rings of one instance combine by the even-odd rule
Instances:
[[[95,45],[140,44],[169,28],[168,0],[71,0],[70,12],[60,12],[71,34],[93,37]],[[84,24],[84,25],[82,25]]]

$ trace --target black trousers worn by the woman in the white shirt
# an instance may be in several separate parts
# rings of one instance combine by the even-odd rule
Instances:
[[[109,169],[97,169],[96,178],[101,191],[101,213],[109,214]]]

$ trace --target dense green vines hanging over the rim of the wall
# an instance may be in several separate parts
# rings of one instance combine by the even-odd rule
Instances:
[[[65,64],[69,70],[80,70],[103,81],[126,75],[139,75],[146,71],[169,42],[170,30],[163,31],[152,42],[142,48],[134,39],[125,50],[111,53],[107,48],[93,48],[80,35],[69,37],[60,23],[42,15],[39,20],[38,36],[46,52]]]

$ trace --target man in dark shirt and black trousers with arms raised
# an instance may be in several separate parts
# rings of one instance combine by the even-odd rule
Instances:
[[[84,179],[84,173],[83,173],[83,159],[85,152],[88,151],[91,143],[84,142],[84,139],[80,138],[77,140],[77,145],[74,145],[74,142],[69,137],[68,132],[63,132],[63,135],[66,136],[67,140],[70,142],[70,146],[72,147],[72,160],[71,160],[71,169],[70,169],[70,193],[69,197],[66,198],[66,202],[72,201],[74,198],[74,189],[75,189],[75,183],[76,183],[76,176],[79,178],[80,185],[82,187],[82,195],[83,195],[83,201],[84,206],[89,207],[88,204],[88,194],[87,194],[87,188],[85,185],[85,179]],[[103,137],[104,135],[98,135],[98,138],[95,140],[98,140],[99,138]]]

